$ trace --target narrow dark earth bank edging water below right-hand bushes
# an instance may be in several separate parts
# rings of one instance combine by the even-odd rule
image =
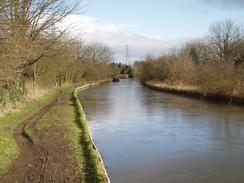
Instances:
[[[161,91],[161,92],[183,95],[183,96],[197,98],[197,99],[214,100],[219,102],[225,102],[228,104],[244,105],[244,97],[221,95],[217,93],[204,93],[198,87],[172,86],[172,85],[168,85],[156,81],[142,82],[142,84],[151,89]]]

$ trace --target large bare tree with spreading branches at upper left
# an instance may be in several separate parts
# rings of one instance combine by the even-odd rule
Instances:
[[[54,34],[55,25],[83,8],[81,2],[0,0],[0,72],[5,73],[0,77],[19,79],[26,67],[49,57],[49,50],[65,32]]]

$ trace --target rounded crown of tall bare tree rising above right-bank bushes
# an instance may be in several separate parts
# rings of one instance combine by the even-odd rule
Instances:
[[[242,40],[240,26],[231,20],[213,24],[209,29],[209,48],[214,58],[232,60],[235,49]]]

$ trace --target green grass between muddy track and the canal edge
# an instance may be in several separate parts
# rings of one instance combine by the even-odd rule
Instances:
[[[73,164],[79,170],[82,183],[105,183],[106,177],[97,152],[89,138],[87,122],[81,105],[74,95],[72,87],[65,88],[64,98],[51,108],[38,121],[36,129],[45,133],[49,128],[62,130],[64,140],[68,142]],[[26,127],[30,138],[32,131]]]

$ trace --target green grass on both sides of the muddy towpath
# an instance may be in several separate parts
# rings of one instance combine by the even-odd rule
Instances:
[[[41,106],[50,101],[59,90],[48,91],[42,97],[23,104],[21,109],[0,118],[0,173],[6,172],[9,165],[19,155],[13,132],[16,126]],[[49,128],[61,129],[64,140],[71,150],[70,158],[79,170],[82,183],[106,183],[103,165],[90,140],[87,121],[73,87],[63,88],[64,97],[57,105],[45,113],[36,123],[38,133],[45,133]],[[26,135],[32,138],[33,129],[26,126]]]

